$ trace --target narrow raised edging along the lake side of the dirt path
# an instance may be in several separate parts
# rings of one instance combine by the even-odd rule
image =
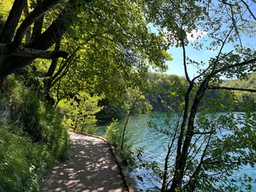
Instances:
[[[119,167],[119,170],[121,171],[122,178],[123,178],[124,182],[126,182],[126,186],[128,187],[129,192],[138,192],[138,190],[136,189],[136,187],[134,185],[134,181],[130,178],[129,171],[127,170],[126,166],[124,166],[124,164],[122,162],[122,159],[118,155],[114,146],[111,145],[111,143],[106,138],[103,138],[101,136],[94,135],[94,134],[85,134],[85,133],[78,132],[78,131],[71,131],[71,130],[68,130],[68,131],[74,132],[76,134],[83,134],[83,135],[90,136],[93,138],[100,138],[104,142],[106,142],[106,144],[110,147],[111,153],[113,154],[115,161],[118,163],[118,167]]]

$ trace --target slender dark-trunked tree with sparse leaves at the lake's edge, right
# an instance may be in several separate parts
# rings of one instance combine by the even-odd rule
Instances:
[[[250,107],[244,113],[232,113],[235,97],[231,92],[233,99],[227,101],[229,108],[218,106],[217,100],[209,102],[212,103],[210,109],[202,106],[208,90],[255,92],[242,87],[216,86],[223,77],[243,79],[256,69],[254,50],[243,45],[246,35],[254,36],[251,33],[256,21],[253,6],[253,1],[154,1],[146,7],[148,19],[164,29],[162,33],[166,34],[170,46],[182,48],[183,67],[189,84],[181,118],[169,132],[171,138],[162,172],[162,191],[238,190],[235,185],[238,181],[229,176],[242,165],[254,166],[256,162],[254,144],[248,140],[256,137],[255,114]],[[217,53],[207,65],[187,57],[186,47],[191,46],[188,37],[193,31],[205,31],[208,38],[203,42],[202,33],[198,35],[201,40],[192,43],[195,49]],[[234,50],[226,52],[228,45]],[[198,66],[194,78],[190,78],[187,70],[189,64]],[[226,114],[216,114],[217,108],[222,107]],[[174,157],[174,163],[170,162],[170,157]],[[241,179],[250,190],[251,178],[244,176]]]

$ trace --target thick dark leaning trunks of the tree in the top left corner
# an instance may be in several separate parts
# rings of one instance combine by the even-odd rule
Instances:
[[[0,61],[0,78],[6,78],[7,75],[14,73],[18,69],[29,65],[34,58],[22,58],[20,56],[9,56],[10,54],[19,51],[22,44],[22,39],[25,37],[28,28],[42,15],[50,10],[51,7],[58,4],[59,1],[43,1],[38,4],[26,16],[20,26],[18,22],[21,20],[22,10],[26,6],[26,0],[16,0],[10,10],[10,14],[6,19],[5,25],[3,26],[0,34],[0,42],[6,43],[5,49],[2,51],[2,59]],[[72,24],[74,17],[70,18],[67,13],[72,13],[71,10],[75,8],[74,2],[66,3],[66,9],[62,10],[62,13],[58,15],[58,18],[52,23],[52,25],[38,38],[33,39],[28,43],[25,48],[35,50],[47,50],[58,41],[62,35],[66,32],[67,28]],[[70,19],[67,19],[70,18]],[[15,33],[16,31],[16,33]]]

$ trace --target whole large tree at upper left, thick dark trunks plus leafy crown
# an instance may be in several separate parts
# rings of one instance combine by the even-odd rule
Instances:
[[[78,93],[83,84],[87,92],[113,93],[110,101],[116,101],[125,87],[141,82],[139,79],[143,79],[149,66],[166,68],[165,61],[170,56],[166,54],[165,41],[147,29],[142,6],[134,1],[89,2],[30,2],[32,11],[22,14],[26,1],[15,1],[0,38],[4,51],[0,78],[34,62],[46,95],[65,98]],[[29,28],[30,41],[24,42]],[[50,49],[47,58],[53,60],[42,64],[40,60],[34,61],[39,54],[24,57],[24,50],[30,49],[39,50],[40,55]],[[52,53],[54,57],[50,56]],[[59,59],[60,56],[66,59]]]

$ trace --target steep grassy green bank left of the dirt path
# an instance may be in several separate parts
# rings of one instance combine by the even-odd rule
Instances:
[[[12,76],[0,104],[0,190],[39,191],[42,177],[70,155],[62,116]]]

